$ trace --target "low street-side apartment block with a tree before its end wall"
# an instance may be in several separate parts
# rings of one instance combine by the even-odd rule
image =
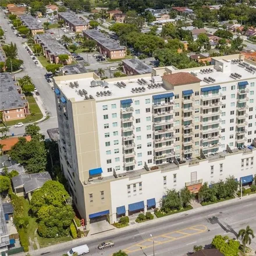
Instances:
[[[72,56],[69,51],[62,44],[52,37],[50,34],[40,34],[35,35],[35,43],[40,44],[42,51],[44,52],[45,58],[49,60],[50,63],[59,63],[59,55],[67,54],[69,59],[67,59],[66,64],[72,63]]]

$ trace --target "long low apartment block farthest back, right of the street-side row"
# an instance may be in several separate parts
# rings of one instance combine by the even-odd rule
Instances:
[[[69,29],[74,32],[81,32],[88,28],[88,23],[79,19],[76,15],[72,14],[71,12],[59,12],[58,17],[59,19],[64,20],[65,25],[69,26]]]

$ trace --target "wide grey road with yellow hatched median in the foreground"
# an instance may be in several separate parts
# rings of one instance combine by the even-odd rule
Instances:
[[[37,255],[65,254],[74,246],[87,244],[90,248],[89,255],[112,255],[115,251],[125,250],[129,256],[152,256],[153,242],[157,256],[184,256],[193,251],[194,245],[207,246],[216,234],[235,237],[241,228],[250,225],[256,230],[256,198],[243,199],[224,205],[211,205],[210,208],[200,208],[199,212],[182,214],[182,216],[169,219],[159,219],[157,222],[136,225],[129,230],[112,230],[106,233],[91,236],[80,240],[73,240],[31,252]],[[150,236],[152,234],[152,238]],[[98,250],[97,246],[104,240],[113,240],[115,247]],[[141,248],[142,247],[142,250]],[[256,250],[256,238],[251,247]]]

